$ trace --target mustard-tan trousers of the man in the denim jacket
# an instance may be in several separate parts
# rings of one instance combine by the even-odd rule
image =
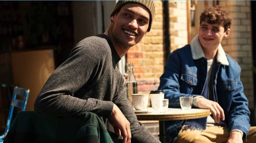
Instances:
[[[181,130],[175,143],[226,143],[230,135],[227,127],[207,126],[205,130]],[[256,127],[251,127],[244,143],[256,143]]]

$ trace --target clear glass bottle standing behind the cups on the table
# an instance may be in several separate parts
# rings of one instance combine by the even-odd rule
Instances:
[[[125,90],[126,90],[126,96],[131,104],[132,104],[131,94],[138,93],[137,82],[133,75],[133,71],[134,71],[133,63],[127,63],[128,76],[127,76],[126,82],[125,82]]]

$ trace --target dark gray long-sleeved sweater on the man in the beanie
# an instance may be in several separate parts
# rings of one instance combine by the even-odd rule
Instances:
[[[120,60],[110,39],[100,34],[80,41],[49,77],[34,103],[37,114],[72,116],[83,111],[103,122],[116,104],[130,122],[132,142],[159,142],[138,122],[126,98]]]

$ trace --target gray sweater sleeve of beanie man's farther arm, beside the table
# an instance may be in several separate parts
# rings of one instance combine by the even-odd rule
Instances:
[[[131,142],[136,143],[160,143],[160,141],[153,136],[153,134],[141,124],[133,111],[133,108],[126,97],[124,79],[119,76],[119,87],[116,89],[113,102],[119,107],[127,120],[130,122],[131,128]]]

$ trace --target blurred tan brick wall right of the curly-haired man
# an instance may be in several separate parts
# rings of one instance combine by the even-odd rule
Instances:
[[[223,48],[241,66],[244,93],[249,100],[249,108],[254,109],[251,2],[219,1],[219,5],[225,7],[232,18],[231,32],[228,38],[223,39]]]

